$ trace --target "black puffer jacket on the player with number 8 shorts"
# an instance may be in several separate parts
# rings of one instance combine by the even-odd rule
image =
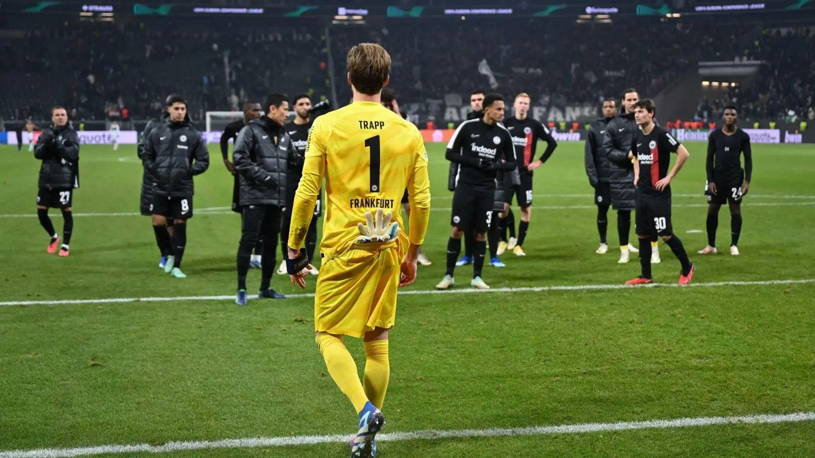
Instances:
[[[190,121],[165,121],[150,132],[142,154],[156,196],[193,196],[192,177],[209,167],[204,139]]]

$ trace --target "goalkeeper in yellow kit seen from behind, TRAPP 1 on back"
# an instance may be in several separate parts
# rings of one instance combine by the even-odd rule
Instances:
[[[385,423],[382,403],[390,377],[388,332],[396,289],[416,280],[416,258],[430,218],[427,152],[416,126],[381,106],[390,55],[360,43],[348,51],[354,102],[318,117],[306,145],[306,163],[294,198],[289,231],[292,283],[305,288],[302,245],[325,178],[325,222],[315,293],[315,330],[328,373],[354,404],[359,429],[352,457],[376,456],[375,435]],[[412,213],[405,234],[401,199]],[[365,374],[342,341],[362,337]]]

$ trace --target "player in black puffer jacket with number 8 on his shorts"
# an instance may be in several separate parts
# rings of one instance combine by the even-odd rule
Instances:
[[[169,117],[156,126],[144,143],[142,162],[152,175],[155,196],[152,201],[153,231],[156,239],[170,245],[165,273],[175,278],[186,278],[181,271],[184,249],[187,246],[187,219],[192,218],[192,196],[195,185],[192,177],[203,174],[209,167],[209,152],[200,132],[187,116],[187,101],[180,95],[167,99]],[[173,218],[172,240],[165,225]]]

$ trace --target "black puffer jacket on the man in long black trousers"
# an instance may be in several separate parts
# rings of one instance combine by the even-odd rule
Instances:
[[[286,206],[286,174],[297,166],[297,149],[283,126],[265,116],[249,121],[235,141],[232,162],[240,205]]]

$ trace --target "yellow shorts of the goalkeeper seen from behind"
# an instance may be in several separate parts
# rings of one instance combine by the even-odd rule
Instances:
[[[353,244],[324,262],[315,291],[315,330],[363,337],[373,328],[392,328],[405,247],[407,236],[400,233],[386,244]]]

